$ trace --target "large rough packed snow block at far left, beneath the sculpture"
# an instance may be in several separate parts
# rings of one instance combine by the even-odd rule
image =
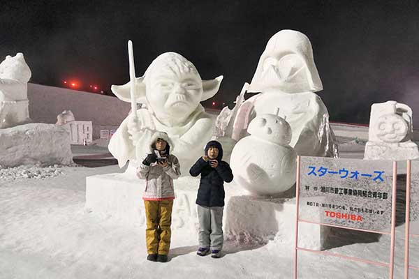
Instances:
[[[73,163],[68,131],[54,124],[29,123],[0,129],[0,165],[69,165]]]

